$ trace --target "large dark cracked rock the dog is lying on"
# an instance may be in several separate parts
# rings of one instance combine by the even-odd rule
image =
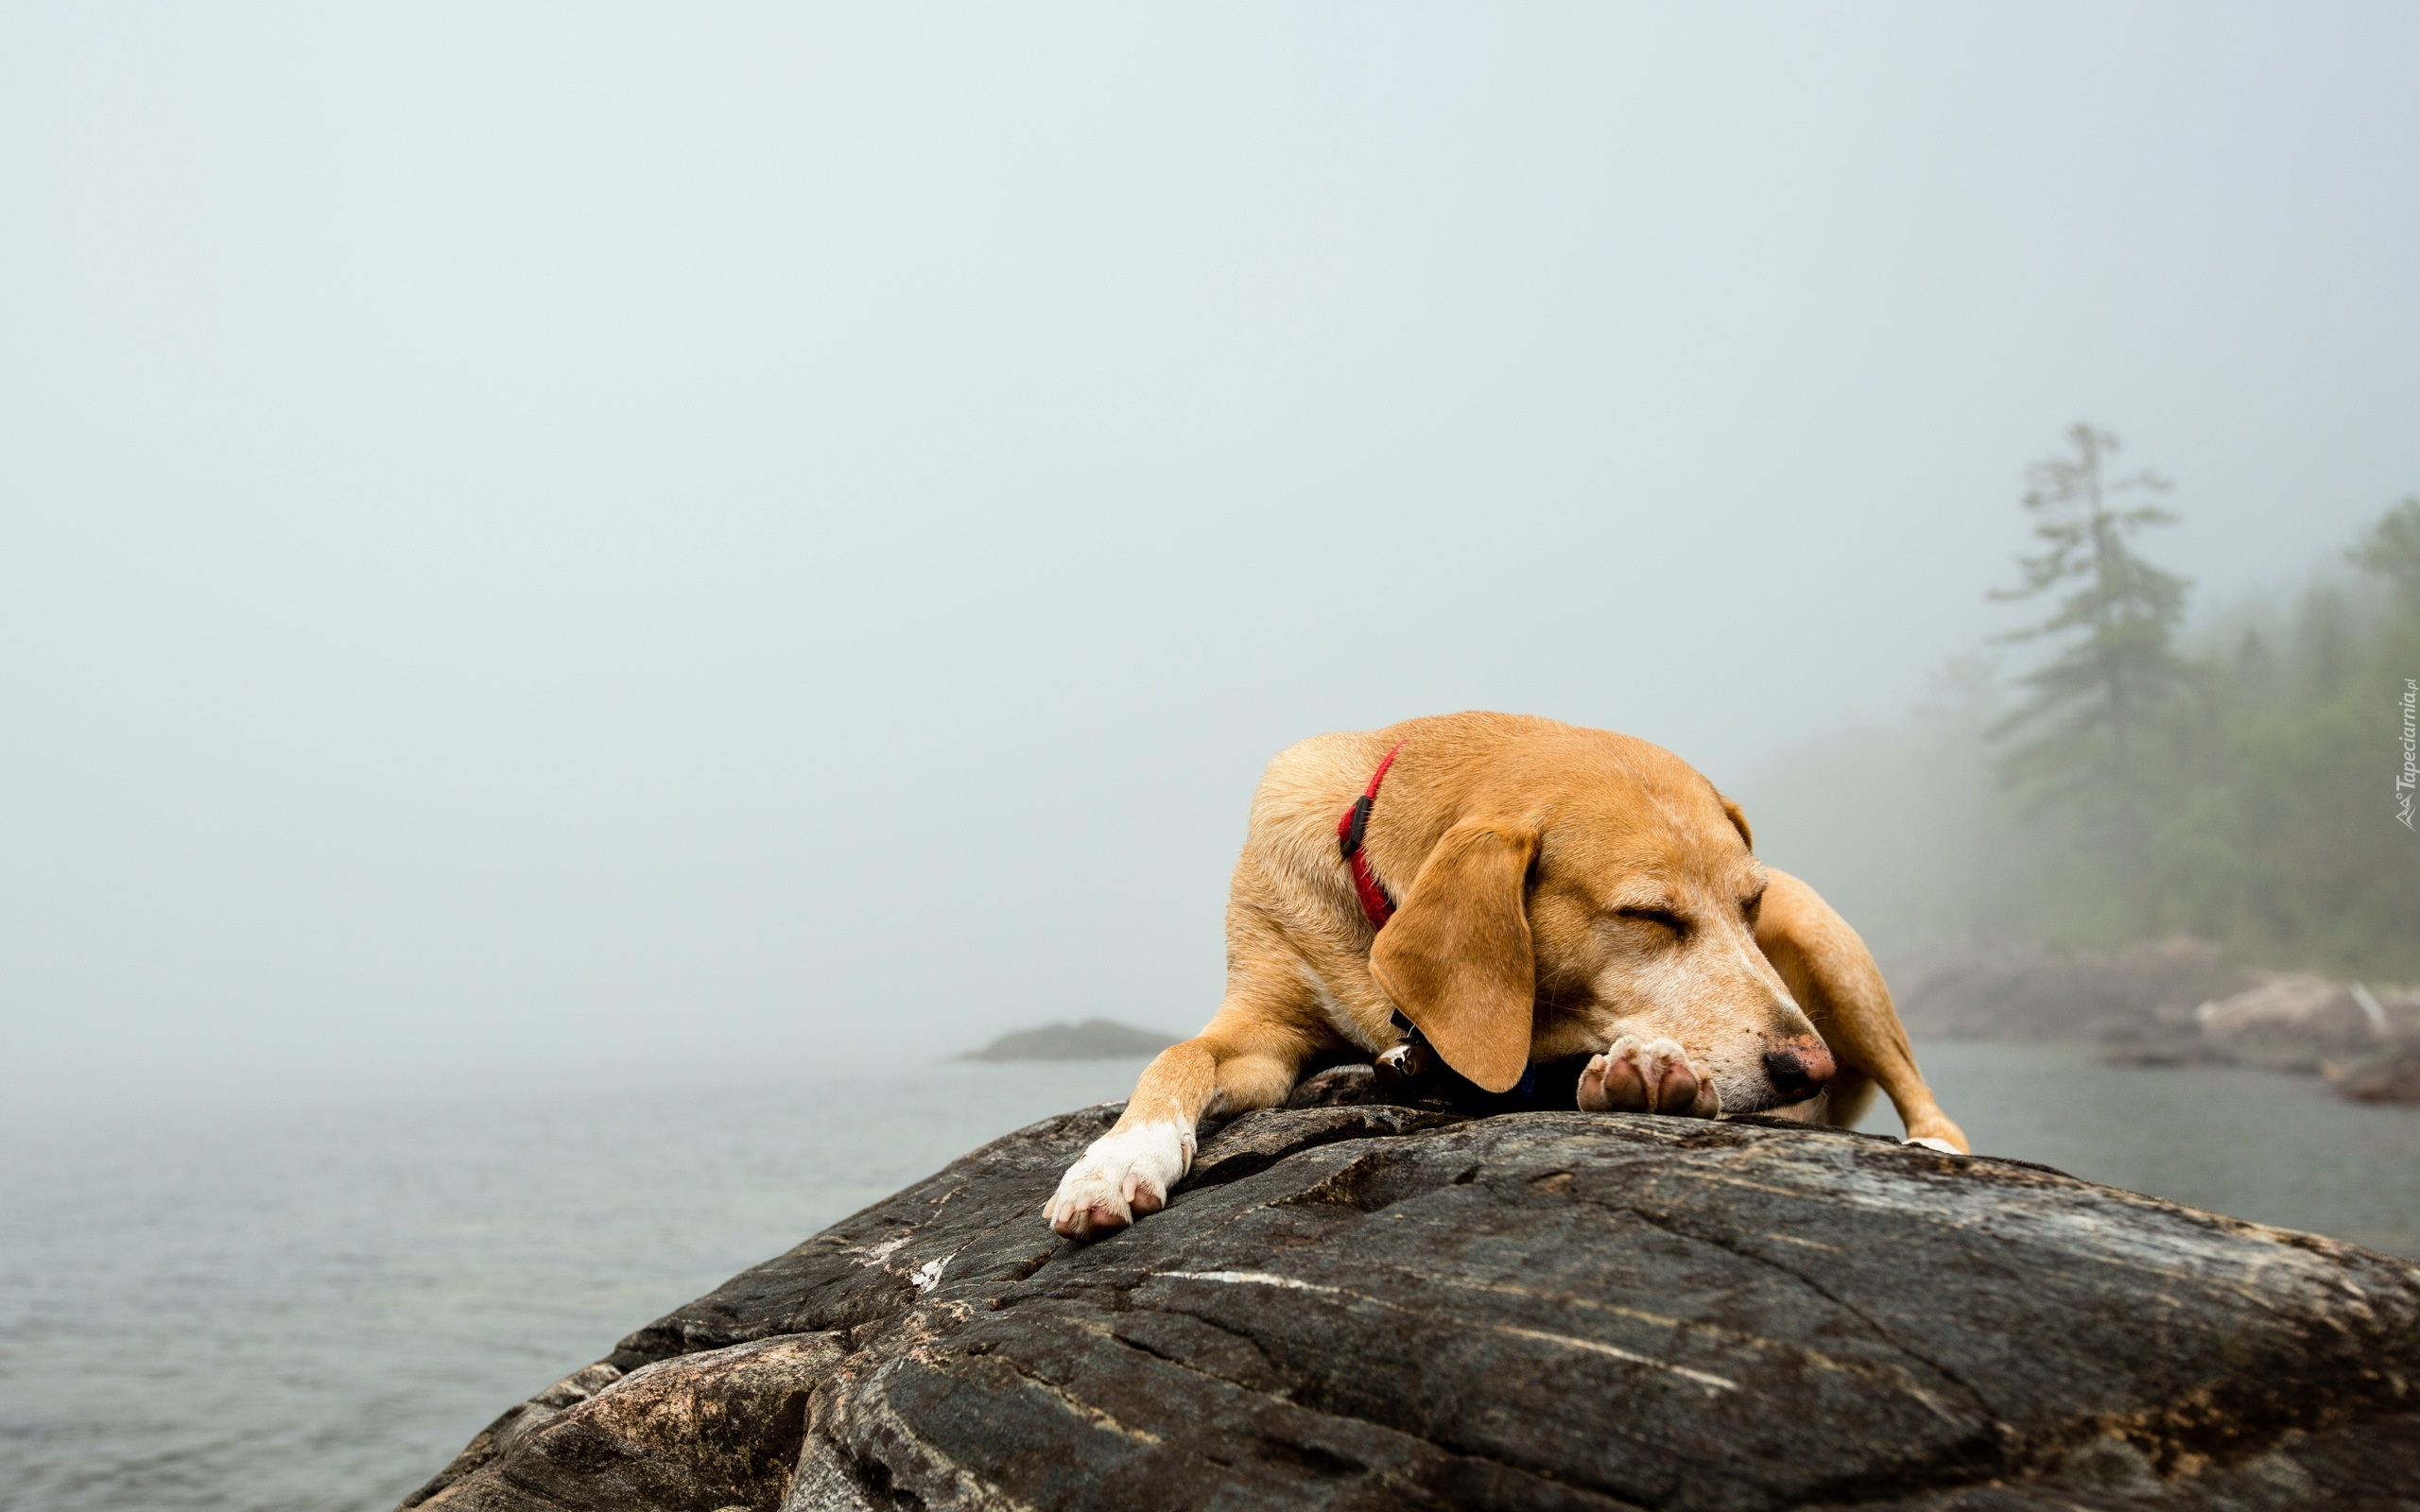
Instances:
[[[1091,1246],[1036,1123],[404,1507],[2420,1512],[2420,1268],[1781,1123],[1246,1113]]]

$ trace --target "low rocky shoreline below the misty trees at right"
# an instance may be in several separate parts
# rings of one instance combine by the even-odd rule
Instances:
[[[1921,953],[1892,987],[1919,1040],[2086,1040],[2118,1064],[2318,1074],[2352,1101],[2420,1103],[2420,992],[2231,965],[2200,939]]]

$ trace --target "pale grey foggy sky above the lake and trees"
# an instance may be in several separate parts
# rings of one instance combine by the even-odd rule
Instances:
[[[7,7],[0,1101],[1183,1031],[1268,755],[1493,706],[1752,793],[2009,622],[2074,419],[2202,600],[2289,578],[2420,489],[2415,63]]]

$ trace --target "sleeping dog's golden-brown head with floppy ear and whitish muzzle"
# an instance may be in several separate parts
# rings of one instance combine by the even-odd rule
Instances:
[[[1815,1096],[1832,1057],[1757,948],[1747,818],[1679,757],[1624,735],[1491,752],[1370,968],[1447,1064],[1488,1091],[1529,1060],[1672,1038],[1754,1113]]]

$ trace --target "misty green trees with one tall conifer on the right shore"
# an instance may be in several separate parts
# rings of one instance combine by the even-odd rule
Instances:
[[[2028,469],[2023,629],[1902,723],[1839,731],[1752,789],[1759,847],[1885,953],[2110,948],[2168,934],[2253,965],[2420,980],[2405,827],[2420,498],[2297,593],[2188,617],[2166,479],[2074,426]],[[2321,542],[2314,542],[2321,544]]]

